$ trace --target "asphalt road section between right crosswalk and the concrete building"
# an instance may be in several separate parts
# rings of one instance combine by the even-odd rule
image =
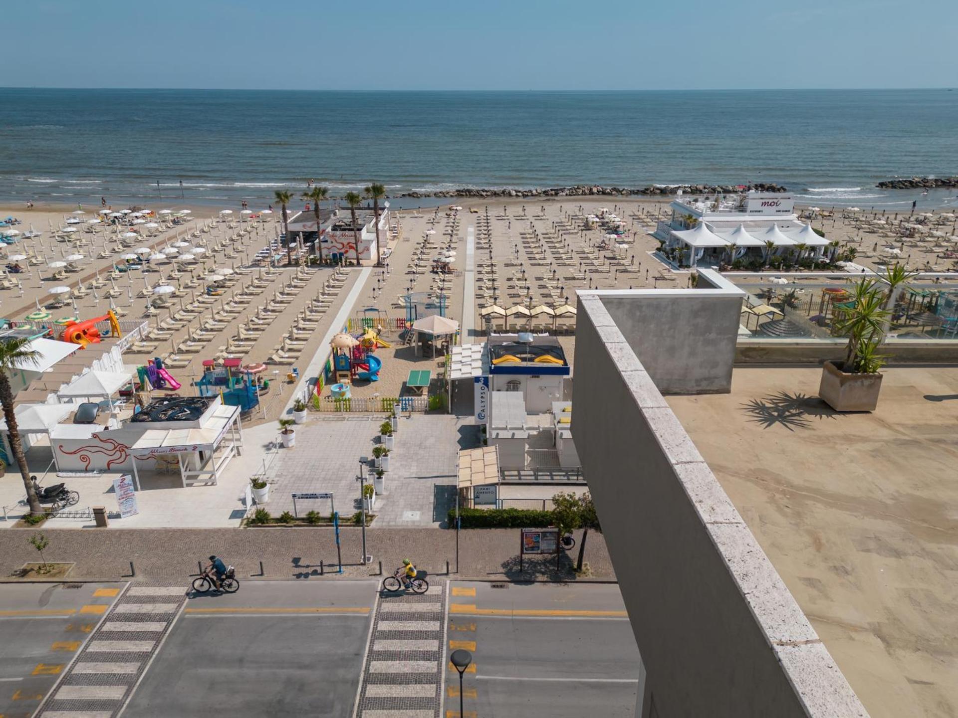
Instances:
[[[464,718],[634,715],[639,653],[617,586],[493,585],[450,587],[446,650],[474,657]],[[446,715],[458,716],[458,684],[450,670]]]

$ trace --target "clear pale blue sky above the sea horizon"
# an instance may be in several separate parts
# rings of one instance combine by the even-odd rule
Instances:
[[[958,85],[958,0],[6,0],[0,86]]]

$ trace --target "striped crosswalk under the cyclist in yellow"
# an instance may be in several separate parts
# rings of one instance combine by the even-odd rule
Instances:
[[[370,632],[357,718],[439,718],[445,581],[424,595],[382,592]]]

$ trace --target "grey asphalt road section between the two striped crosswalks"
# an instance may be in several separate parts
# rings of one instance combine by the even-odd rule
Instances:
[[[376,581],[244,581],[197,596],[124,718],[352,715]]]

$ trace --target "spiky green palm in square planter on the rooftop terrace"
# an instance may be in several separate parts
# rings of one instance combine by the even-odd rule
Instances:
[[[885,336],[885,297],[875,280],[855,282],[852,306],[835,320],[835,328],[848,335],[843,362],[825,362],[818,395],[836,412],[873,412],[878,406],[884,356],[878,348]]]

